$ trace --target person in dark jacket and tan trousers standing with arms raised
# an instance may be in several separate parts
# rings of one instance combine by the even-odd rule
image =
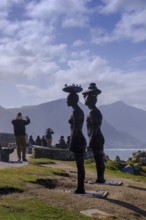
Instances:
[[[21,157],[23,161],[26,160],[26,129],[25,125],[30,124],[30,118],[27,116],[26,119],[22,118],[22,113],[19,112],[17,114],[16,119],[12,120],[12,124],[14,127],[14,135],[16,139],[16,147],[17,147],[17,156],[18,161],[21,161]]]

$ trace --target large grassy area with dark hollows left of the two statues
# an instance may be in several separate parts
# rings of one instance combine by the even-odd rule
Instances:
[[[49,194],[45,195],[45,197],[44,194],[41,196],[44,190],[53,190],[56,188],[58,184],[56,176],[64,177],[68,175],[64,170],[44,167],[40,166],[40,164],[44,164],[44,160],[37,159],[37,161],[34,161],[34,165],[29,164],[24,167],[0,170],[0,219],[91,219],[80,214],[79,211],[69,211],[68,209],[55,207],[55,203],[48,203]],[[34,184],[34,187],[32,184]],[[58,200],[58,195],[56,195],[56,199]]]

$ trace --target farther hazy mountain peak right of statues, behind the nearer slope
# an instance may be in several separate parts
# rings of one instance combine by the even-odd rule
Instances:
[[[118,131],[124,131],[146,143],[146,111],[115,102],[100,107],[104,119]]]

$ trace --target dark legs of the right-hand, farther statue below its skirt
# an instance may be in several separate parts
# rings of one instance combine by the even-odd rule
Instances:
[[[105,171],[105,165],[104,165],[104,152],[97,149],[92,149],[93,157],[96,163],[96,172],[97,172],[97,182],[104,183],[104,171]]]

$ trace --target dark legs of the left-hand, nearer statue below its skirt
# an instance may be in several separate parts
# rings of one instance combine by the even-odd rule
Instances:
[[[84,152],[74,153],[77,166],[77,190],[84,191],[85,168],[84,168]]]

